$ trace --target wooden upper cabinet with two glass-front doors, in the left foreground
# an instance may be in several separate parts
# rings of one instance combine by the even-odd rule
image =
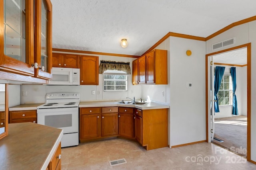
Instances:
[[[50,0],[0,0],[0,6],[0,70],[51,79]]]

